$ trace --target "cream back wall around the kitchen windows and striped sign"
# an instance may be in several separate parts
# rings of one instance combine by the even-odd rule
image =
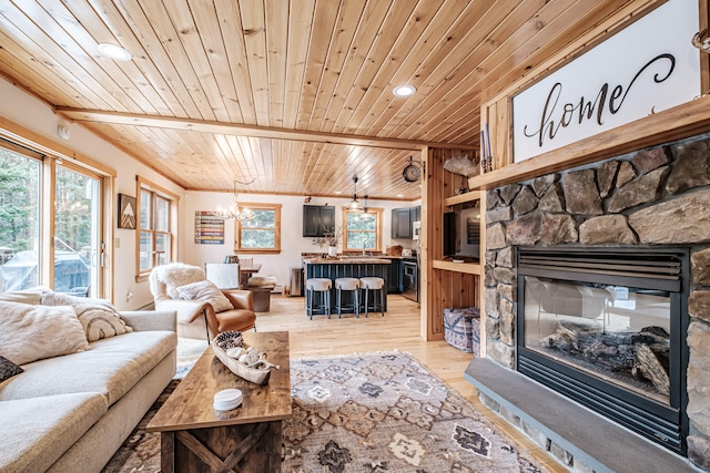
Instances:
[[[303,205],[304,198],[300,196],[283,196],[267,194],[240,194],[242,203],[281,204],[281,254],[275,255],[253,255],[254,263],[261,263],[260,276],[275,276],[278,284],[288,286],[290,267],[301,267],[302,253],[326,253],[326,247],[312,244],[313,238],[304,238],[303,235]],[[311,205],[334,205],[335,224],[343,224],[342,207],[347,205],[349,197],[325,198],[314,197]],[[232,255],[234,248],[234,223],[227,222],[224,228],[224,245],[197,245],[194,238],[194,216],[195,212],[215,210],[219,206],[229,207],[232,204],[232,194],[229,193],[204,193],[186,192],[184,205],[184,233],[182,247],[184,248],[184,261],[191,265],[202,266],[205,263],[221,263],[225,255]],[[402,245],[404,248],[414,248],[413,240],[392,240],[392,209],[398,207],[413,207],[416,203],[399,200],[368,200],[373,208],[383,209],[383,250],[390,245]],[[237,253],[239,255],[239,253]],[[240,256],[252,257],[242,254]]]

